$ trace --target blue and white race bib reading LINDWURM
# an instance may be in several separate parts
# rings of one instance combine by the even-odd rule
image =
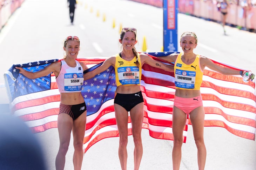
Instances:
[[[175,70],[175,86],[184,89],[194,89],[196,80],[196,72]]]

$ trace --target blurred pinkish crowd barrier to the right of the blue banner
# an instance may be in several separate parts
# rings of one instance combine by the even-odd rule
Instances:
[[[178,0],[180,13],[221,23],[217,4],[223,0]],[[226,24],[238,29],[256,31],[256,0],[227,0]]]

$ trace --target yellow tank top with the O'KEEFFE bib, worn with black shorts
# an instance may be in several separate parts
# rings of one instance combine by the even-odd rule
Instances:
[[[140,67],[136,65],[136,57],[131,61],[126,61],[116,54],[115,62],[115,75],[116,75],[116,86],[129,86],[129,85],[140,85],[141,80],[141,61],[140,54],[138,53],[138,61]]]

